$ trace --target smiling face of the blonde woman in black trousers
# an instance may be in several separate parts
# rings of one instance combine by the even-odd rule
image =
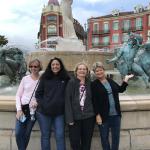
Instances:
[[[80,64],[77,66],[76,75],[77,78],[85,78],[87,76],[88,69],[84,64]]]

